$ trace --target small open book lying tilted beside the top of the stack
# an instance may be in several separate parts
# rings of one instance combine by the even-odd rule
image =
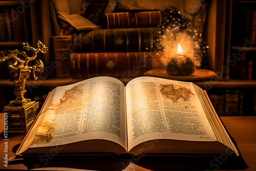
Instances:
[[[73,26],[77,31],[79,30],[95,30],[100,29],[101,26],[97,26],[90,22],[89,19],[84,18],[79,14],[68,14],[66,12],[57,12],[58,18],[65,20],[71,26]]]

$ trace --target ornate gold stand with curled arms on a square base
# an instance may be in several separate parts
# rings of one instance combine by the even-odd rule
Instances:
[[[6,59],[14,59],[14,63],[9,66],[9,70],[11,71],[10,81],[14,83],[16,99],[11,101],[4,109],[4,112],[8,113],[8,133],[26,133],[38,113],[39,102],[31,101],[24,97],[27,92],[25,83],[30,73],[34,79],[37,79],[35,72],[44,71],[44,63],[41,60],[37,60],[35,66],[28,66],[28,62],[36,58],[37,52],[46,53],[48,51],[48,48],[40,41],[37,42],[37,46],[35,49],[30,47],[27,42],[23,43],[24,49],[33,51],[32,57],[28,57],[25,52],[17,50],[10,50],[7,56],[0,52],[0,62]]]

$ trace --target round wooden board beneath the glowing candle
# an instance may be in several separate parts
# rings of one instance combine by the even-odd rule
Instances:
[[[173,80],[180,80],[180,81],[203,80],[203,79],[209,79],[217,76],[217,74],[214,71],[210,71],[206,69],[196,69],[193,74],[186,75],[186,76],[169,75],[167,74],[165,69],[149,70],[149,71],[146,71],[144,75],[166,78],[166,79],[173,79]]]

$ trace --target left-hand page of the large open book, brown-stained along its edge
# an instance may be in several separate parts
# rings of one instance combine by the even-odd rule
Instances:
[[[46,147],[90,139],[127,148],[124,84],[95,77],[55,88],[26,137],[28,147]]]

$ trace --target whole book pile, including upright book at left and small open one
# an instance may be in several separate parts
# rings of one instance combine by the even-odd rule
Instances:
[[[95,25],[99,22],[79,14],[54,13],[57,19],[75,28],[73,35],[53,36],[57,77],[133,78],[142,76],[147,70],[159,68],[161,62],[157,44],[161,12],[107,11],[111,13],[102,10],[105,16],[102,27]],[[81,19],[89,24],[81,26],[84,23],[78,22]]]

